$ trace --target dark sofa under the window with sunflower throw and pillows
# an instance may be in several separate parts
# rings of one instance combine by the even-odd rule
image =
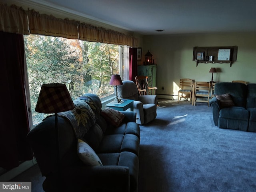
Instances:
[[[58,113],[58,137],[54,115],[27,135],[46,177],[44,191],[138,191],[140,127],[136,113],[102,110],[94,94],[84,94],[74,104],[74,110]]]

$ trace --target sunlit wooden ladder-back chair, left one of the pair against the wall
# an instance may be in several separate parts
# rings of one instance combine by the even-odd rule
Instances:
[[[189,103],[192,102],[192,79],[180,79],[180,90],[178,91],[178,103],[180,98],[190,98]]]

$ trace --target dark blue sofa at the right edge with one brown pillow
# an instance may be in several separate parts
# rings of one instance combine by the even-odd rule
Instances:
[[[256,84],[219,82],[210,100],[219,128],[256,132]]]

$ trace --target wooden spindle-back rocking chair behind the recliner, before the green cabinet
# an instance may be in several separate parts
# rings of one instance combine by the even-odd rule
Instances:
[[[157,87],[148,86],[148,76],[136,76],[136,86],[138,88],[139,95],[155,95]]]

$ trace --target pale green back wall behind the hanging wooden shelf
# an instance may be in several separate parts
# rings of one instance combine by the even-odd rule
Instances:
[[[219,63],[199,63],[196,67],[196,62],[192,61],[195,46],[238,46],[237,61],[231,67]],[[148,50],[157,64],[158,98],[177,99],[180,78],[210,81],[211,67],[217,69],[215,82],[256,83],[256,34],[253,32],[144,36],[142,54]]]

